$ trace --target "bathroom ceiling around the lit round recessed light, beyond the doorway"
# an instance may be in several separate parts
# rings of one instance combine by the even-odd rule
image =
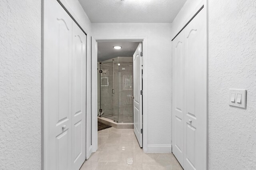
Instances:
[[[114,49],[115,45],[122,46]],[[98,61],[105,61],[115,57],[132,57],[139,42],[98,42]]]

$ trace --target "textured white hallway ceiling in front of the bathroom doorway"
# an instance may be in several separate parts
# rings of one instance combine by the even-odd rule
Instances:
[[[186,0],[79,0],[92,23],[172,22]]]

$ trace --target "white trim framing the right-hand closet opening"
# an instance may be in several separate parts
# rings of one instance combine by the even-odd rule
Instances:
[[[174,32],[174,37],[172,40],[174,40],[174,38],[177,36],[176,34],[179,33],[179,31],[181,31],[183,29],[184,26],[186,26],[186,24],[192,20],[193,16],[200,10],[200,8],[202,8],[202,6],[204,6],[204,8],[206,9],[206,51],[207,51],[207,76],[206,76],[206,95],[207,95],[207,101],[206,101],[206,125],[205,125],[205,133],[206,133],[206,138],[204,139],[204,142],[206,144],[206,155],[205,155],[205,159],[206,159],[206,164],[204,165],[205,166],[205,169],[208,169],[208,155],[209,155],[209,152],[208,152],[208,35],[209,35],[209,29],[208,29],[208,0],[202,0],[201,2],[198,3],[198,6],[196,6],[196,8],[194,8],[193,12],[188,16],[188,18],[186,18],[186,20],[184,20],[183,24],[181,24],[178,28],[178,30],[174,30],[176,32]]]

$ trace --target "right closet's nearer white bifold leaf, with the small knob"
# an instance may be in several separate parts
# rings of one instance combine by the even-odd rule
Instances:
[[[184,169],[206,169],[206,9],[184,29]]]

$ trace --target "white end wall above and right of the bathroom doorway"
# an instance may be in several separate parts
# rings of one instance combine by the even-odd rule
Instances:
[[[147,36],[148,145],[170,145],[172,136],[171,24],[92,24],[92,35]]]

